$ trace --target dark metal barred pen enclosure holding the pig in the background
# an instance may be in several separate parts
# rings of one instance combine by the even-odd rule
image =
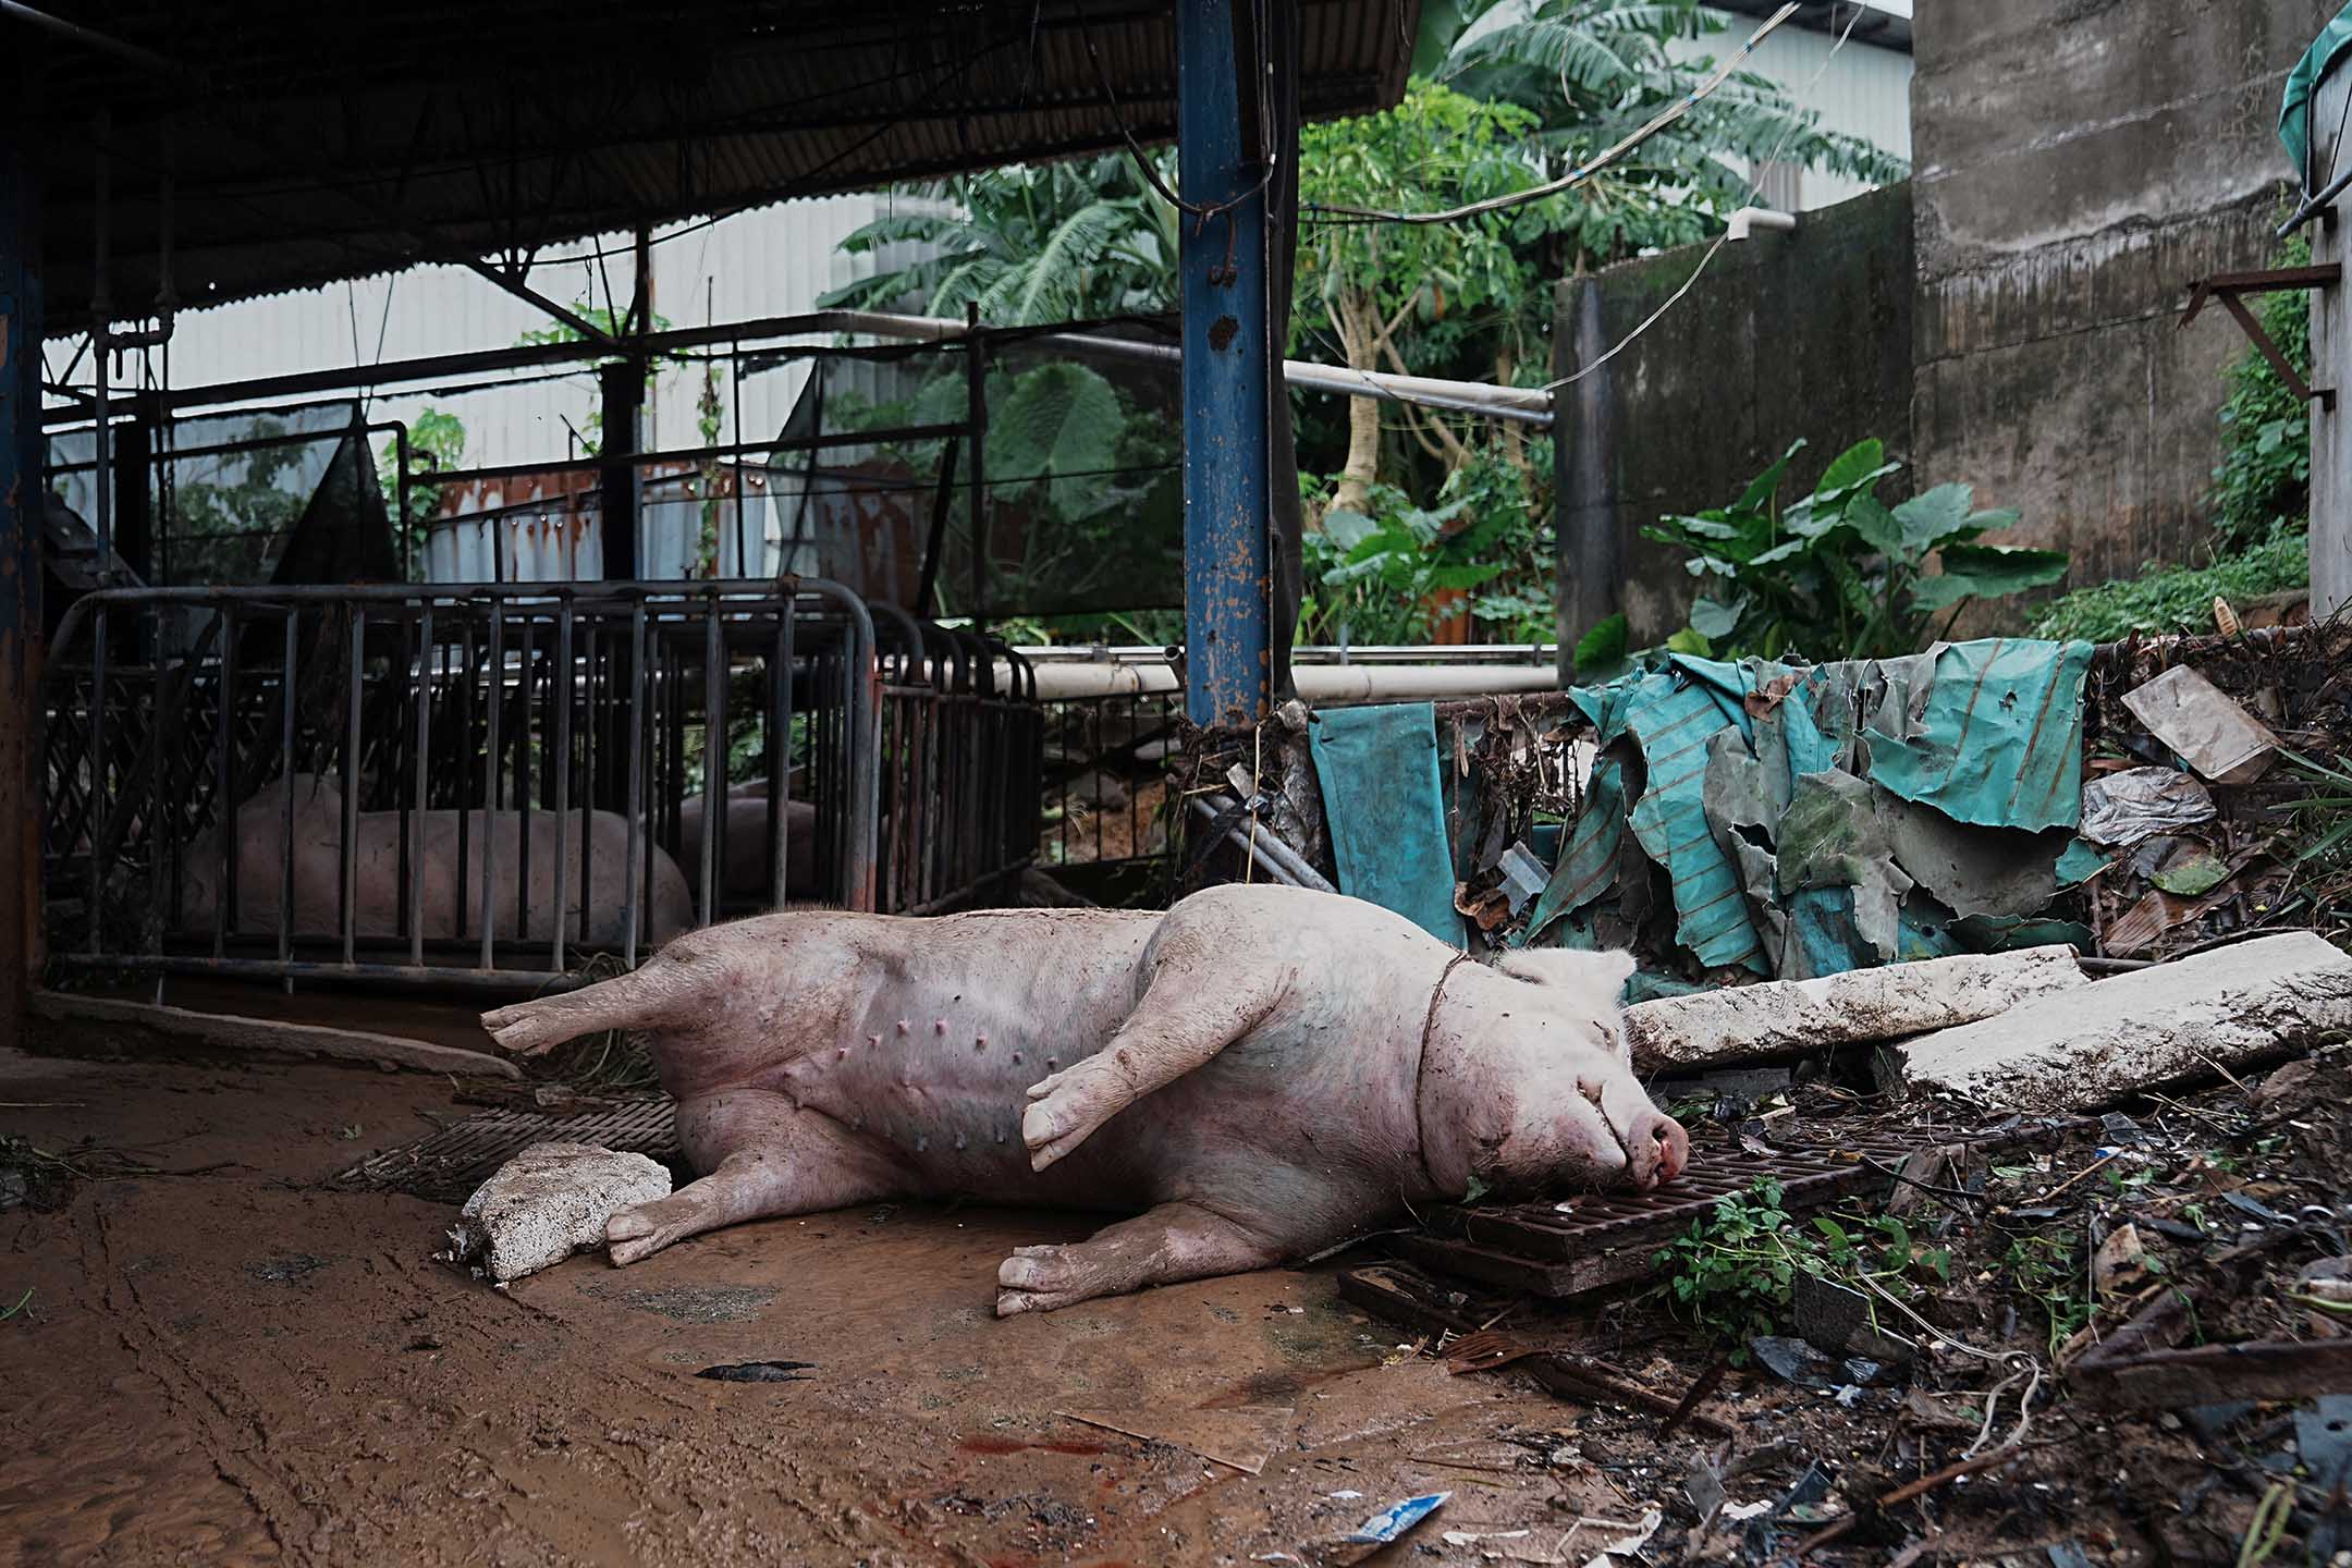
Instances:
[[[891,656],[814,578],[85,595],[45,672],[49,966],[513,990],[971,898],[1025,860],[1035,703],[882,614]]]

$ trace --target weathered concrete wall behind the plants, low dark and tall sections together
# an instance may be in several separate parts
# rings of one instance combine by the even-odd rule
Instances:
[[[1637,642],[1672,632],[1691,578],[1639,527],[1722,505],[1797,435],[1811,442],[1799,480],[1879,435],[1912,463],[1905,487],[1976,484],[1978,505],[2023,512],[2013,543],[2074,557],[2072,583],[2194,559],[2211,538],[2223,369],[2246,341],[2227,313],[2187,331],[2178,313],[2192,280],[2272,263],[2291,174],[2279,89],[2336,9],[1922,7],[1910,186],[1809,212],[1792,237],[1726,244],[1644,336],[1562,393],[1562,642],[1618,604]],[[1562,367],[1623,341],[1703,254],[1562,284]],[[2343,301],[2333,310],[2314,313],[2314,343],[2331,324],[2352,343]],[[2317,378],[2331,381],[2326,364]],[[2314,510],[2352,484],[2345,423],[2319,433],[2314,468],[2338,468],[2317,475]],[[2314,574],[2352,592],[2340,529],[2314,541]]]

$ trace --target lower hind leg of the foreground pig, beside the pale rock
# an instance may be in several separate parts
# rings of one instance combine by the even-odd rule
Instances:
[[[677,1107],[687,1159],[710,1175],[604,1225],[616,1267],[741,1220],[844,1208],[906,1187],[849,1128],[764,1088],[729,1088]]]

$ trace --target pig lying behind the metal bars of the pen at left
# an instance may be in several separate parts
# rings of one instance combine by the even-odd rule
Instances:
[[[278,931],[278,898],[285,882],[287,788],[294,792],[294,931],[329,936],[343,929],[336,891],[343,886],[343,792],[325,773],[273,780],[238,806],[238,907],[235,929]],[[400,818],[409,818],[409,856],[423,860],[423,931],[452,940],[482,933],[482,856],[489,839],[492,933],[517,936],[515,884],[522,872],[522,835],[529,832],[529,919],[522,936],[555,936],[555,863],[564,865],[564,940],[619,945],[626,938],[621,907],[628,870],[628,820],[612,811],[572,811],[557,825],[553,811],[360,811],[355,818],[358,889],[353,929],[362,938],[405,936],[400,926],[402,865]],[[459,816],[466,818],[466,853],[459,856]],[[524,818],[529,825],[524,827]],[[581,846],[593,870],[581,870]],[[221,842],[188,851],[181,882],[181,929],[212,931],[221,886]],[[581,886],[586,882],[586,889]],[[583,907],[586,893],[586,907]],[[694,926],[694,905],[677,863],[654,851],[652,886],[637,870],[637,940],[666,943]]]

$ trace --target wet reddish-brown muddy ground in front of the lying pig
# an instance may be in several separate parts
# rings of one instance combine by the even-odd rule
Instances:
[[[167,1171],[0,1213],[0,1309],[31,1291],[0,1321],[0,1561],[1223,1563],[1444,1486],[1451,1528],[1625,1509],[1416,1458],[1576,1413],[1399,1356],[1329,1274],[1000,1324],[1004,1253],[1089,1222],[901,1206],[501,1293],[433,1262],[442,1206],[322,1187],[463,1114],[445,1079],[0,1053],[0,1131]],[[816,1371],[694,1375],[750,1359]],[[1223,1418],[1272,1422],[1261,1476],[1056,1415],[1232,1406],[1289,1408]]]

